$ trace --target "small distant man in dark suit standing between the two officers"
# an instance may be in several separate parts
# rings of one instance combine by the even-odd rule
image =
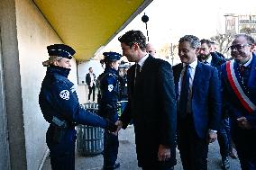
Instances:
[[[88,101],[90,102],[91,94],[93,94],[93,102],[95,102],[95,93],[96,93],[96,75],[92,67],[89,67],[89,73],[86,76],[86,83],[88,85],[89,94]]]

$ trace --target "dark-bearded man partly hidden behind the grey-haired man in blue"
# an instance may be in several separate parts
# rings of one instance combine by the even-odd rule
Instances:
[[[225,63],[224,58],[219,57],[216,52],[210,52],[212,49],[210,40],[203,39],[200,40],[200,42],[201,49],[199,50],[199,55],[197,58],[200,58],[201,61],[206,65],[217,68],[220,75],[221,65]],[[217,135],[220,146],[220,154],[222,156],[222,168],[226,170],[230,167],[228,156],[232,149],[232,144],[230,141],[230,124],[227,112],[223,112],[220,129],[218,130]]]

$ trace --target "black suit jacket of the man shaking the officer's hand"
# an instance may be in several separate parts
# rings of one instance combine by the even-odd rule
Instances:
[[[139,165],[157,161],[160,144],[171,148],[169,165],[176,164],[176,102],[171,66],[146,59],[134,87],[135,66],[128,70],[128,103],[121,116],[124,129],[133,119]]]

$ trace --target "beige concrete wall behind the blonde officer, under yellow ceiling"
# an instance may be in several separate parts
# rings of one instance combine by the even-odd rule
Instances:
[[[20,73],[23,96],[23,120],[27,157],[27,169],[38,169],[47,150],[45,132],[48,123],[44,121],[38,104],[41,81],[46,67],[46,47],[62,43],[59,36],[45,20],[32,0],[15,0]],[[72,60],[69,79],[77,85],[77,64]]]

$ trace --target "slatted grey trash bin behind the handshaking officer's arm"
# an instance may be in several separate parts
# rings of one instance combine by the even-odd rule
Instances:
[[[82,105],[89,112],[97,112],[97,103],[85,103]],[[79,155],[93,156],[102,153],[104,149],[104,130],[99,127],[77,126],[77,150]]]

